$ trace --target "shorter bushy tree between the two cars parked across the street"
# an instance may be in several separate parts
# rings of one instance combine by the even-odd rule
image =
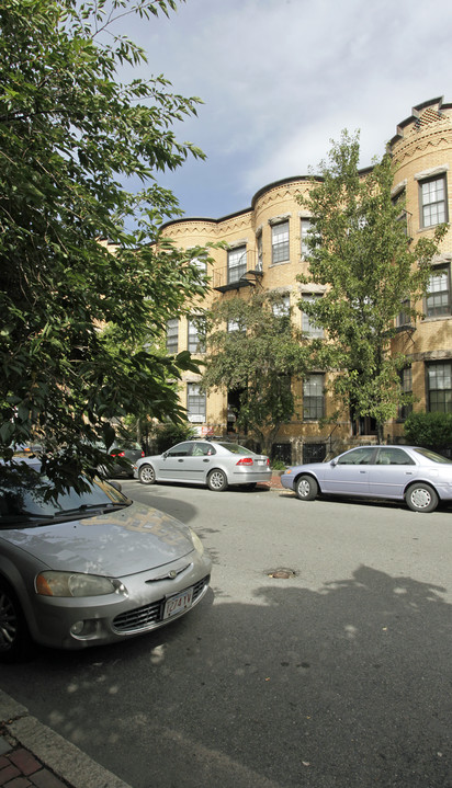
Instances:
[[[306,372],[307,355],[282,295],[221,300],[212,311],[202,388],[238,392],[237,429],[271,455],[281,425],[294,415],[291,378]]]

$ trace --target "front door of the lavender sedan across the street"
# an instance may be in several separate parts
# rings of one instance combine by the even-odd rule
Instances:
[[[321,491],[336,495],[369,495],[373,446],[360,446],[326,462]]]

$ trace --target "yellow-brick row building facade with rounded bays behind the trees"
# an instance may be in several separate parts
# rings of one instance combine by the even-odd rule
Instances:
[[[452,165],[452,103],[442,99],[427,101],[413,109],[411,115],[397,126],[389,142],[397,171],[394,198],[405,195],[408,235],[416,240],[431,235],[434,227],[449,222]],[[210,270],[212,290],[203,306],[217,298],[238,294],[247,298],[250,288],[284,293],[293,309],[293,319],[307,336],[321,335],[321,328],[312,324],[298,304],[321,297],[321,286],[302,285],[300,274],[308,273],[306,233],[309,215],[300,204],[300,196],[309,189],[308,176],[287,178],[263,186],[251,206],[221,219],[184,218],[167,222],[163,235],[183,249],[222,241],[224,249],[213,249]],[[452,235],[448,232],[440,254],[432,261],[423,319],[411,324],[400,305],[397,335],[393,350],[403,351],[407,366],[402,372],[404,389],[415,396],[415,410],[452,410],[452,310],[451,310]],[[189,349],[203,356],[196,310],[192,319],[168,323],[167,346],[170,352]],[[294,381],[300,407],[297,415],[284,425],[276,438],[275,450],[287,462],[323,458],[328,450],[338,450],[355,441],[375,439],[370,419],[351,423],[341,421],[320,426],[319,420],[334,411],[325,397],[325,375],[313,370],[303,381]],[[225,435],[234,431],[233,392],[200,390],[200,380],[188,375],[181,390],[189,420],[200,434]],[[403,437],[403,424],[409,409],[387,424],[391,441]]]

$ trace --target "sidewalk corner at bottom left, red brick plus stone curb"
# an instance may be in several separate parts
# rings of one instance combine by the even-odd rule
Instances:
[[[0,690],[1,788],[131,788]]]

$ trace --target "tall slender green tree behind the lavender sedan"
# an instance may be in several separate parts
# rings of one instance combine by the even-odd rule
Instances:
[[[320,163],[321,178],[313,179],[302,198],[312,230],[309,274],[300,281],[327,286],[321,298],[303,301],[303,310],[328,336],[317,347],[317,365],[335,373],[330,388],[342,408],[375,419],[382,441],[385,422],[405,403],[398,373],[406,359],[389,352],[395,319],[403,302],[413,320],[419,317],[445,226],[414,244],[403,203],[392,198],[389,155],[366,172],[358,163],[359,135],[343,132],[329,161]]]

